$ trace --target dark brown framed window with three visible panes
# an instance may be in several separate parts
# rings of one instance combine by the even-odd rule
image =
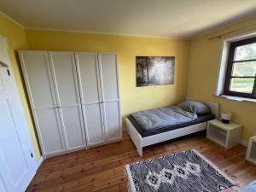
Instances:
[[[230,44],[224,95],[256,99],[256,38]]]

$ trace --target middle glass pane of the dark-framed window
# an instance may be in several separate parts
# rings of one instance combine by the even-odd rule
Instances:
[[[232,76],[253,76],[256,74],[256,61],[235,62]]]

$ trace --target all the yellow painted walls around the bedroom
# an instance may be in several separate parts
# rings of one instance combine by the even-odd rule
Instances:
[[[21,81],[20,68],[15,60],[16,49],[117,52],[123,117],[135,111],[181,102],[188,93],[188,96],[219,102],[222,110],[231,111],[234,121],[244,126],[242,138],[247,140],[248,137],[256,135],[256,125],[253,122],[256,103],[236,102],[213,96],[223,40],[209,41],[207,38],[251,23],[256,23],[256,19],[242,21],[189,42],[181,39],[24,30],[0,15],[0,35],[8,38],[9,55],[37,158],[40,156],[40,151],[26,100],[25,87]],[[174,55],[176,57],[175,84],[137,88],[135,63],[137,55]]]

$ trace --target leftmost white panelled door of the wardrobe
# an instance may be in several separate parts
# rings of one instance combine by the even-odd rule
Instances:
[[[20,62],[44,156],[65,151],[55,90],[44,51],[20,51]]]

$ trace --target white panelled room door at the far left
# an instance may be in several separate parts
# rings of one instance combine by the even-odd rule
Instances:
[[[0,61],[9,66],[0,67],[0,190],[20,192],[31,182],[37,162],[4,38]]]

